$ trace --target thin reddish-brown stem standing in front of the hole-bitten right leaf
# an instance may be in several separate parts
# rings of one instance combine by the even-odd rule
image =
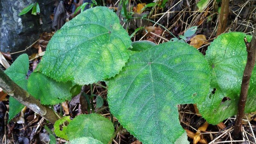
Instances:
[[[236,116],[236,123],[234,128],[234,136],[238,138],[241,133],[242,128],[242,119],[244,118],[244,107],[247,99],[248,87],[250,83],[250,78],[252,75],[252,70],[255,65],[255,56],[256,56],[256,32],[253,33],[251,44],[244,40],[246,43],[247,50],[247,62],[244,68],[244,75],[241,84],[240,98],[238,102],[238,112]]]

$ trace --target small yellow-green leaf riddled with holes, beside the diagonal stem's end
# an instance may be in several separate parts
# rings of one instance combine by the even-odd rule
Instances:
[[[64,116],[62,119],[59,119],[54,124],[54,133],[65,140],[68,140],[67,136],[67,126],[71,122],[70,116]]]

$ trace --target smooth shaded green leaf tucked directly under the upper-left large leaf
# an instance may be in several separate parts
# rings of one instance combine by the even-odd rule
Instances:
[[[71,88],[72,82],[56,82],[40,72],[33,72],[28,78],[28,92],[45,105],[71,100]]]

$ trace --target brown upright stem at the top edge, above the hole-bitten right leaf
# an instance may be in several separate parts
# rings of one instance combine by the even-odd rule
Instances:
[[[220,18],[218,23],[217,29],[217,36],[225,32],[227,22],[228,22],[228,12],[229,12],[229,0],[222,0],[221,1],[221,8],[220,8]]]

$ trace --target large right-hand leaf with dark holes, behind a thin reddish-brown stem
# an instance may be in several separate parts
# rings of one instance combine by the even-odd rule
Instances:
[[[205,58],[211,67],[211,86],[215,88],[206,100],[198,104],[202,116],[210,124],[218,124],[237,113],[244,67],[247,61],[244,37],[252,36],[240,32],[218,36],[206,51]],[[245,112],[256,110],[256,71],[252,71]],[[214,114],[214,115],[213,115]]]

